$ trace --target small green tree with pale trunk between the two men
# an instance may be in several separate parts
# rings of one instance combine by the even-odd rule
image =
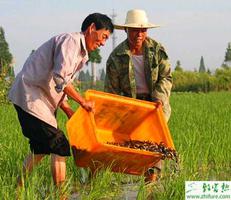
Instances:
[[[91,72],[92,72],[92,85],[96,86],[96,63],[101,63],[102,57],[100,55],[100,50],[96,49],[89,54],[89,62],[91,62]]]

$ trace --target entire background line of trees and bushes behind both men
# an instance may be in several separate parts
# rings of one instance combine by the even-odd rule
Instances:
[[[89,54],[91,73],[89,70],[80,71],[76,81],[81,91],[89,88],[103,90],[105,70],[99,69],[97,77],[95,65],[101,63],[101,60],[99,49]],[[7,92],[15,76],[13,65],[13,56],[9,51],[4,30],[0,27],[0,103],[7,102]],[[198,70],[194,69],[194,71],[185,71],[178,60],[173,70],[172,90],[175,92],[231,91],[231,42],[228,43],[224,62],[214,73],[211,73],[209,68],[206,69],[203,56],[201,56]]]

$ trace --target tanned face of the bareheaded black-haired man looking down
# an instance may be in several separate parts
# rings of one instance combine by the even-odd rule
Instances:
[[[85,37],[87,51],[91,52],[99,48],[100,46],[104,46],[110,34],[110,31],[106,29],[96,30],[95,25],[92,24],[89,27],[89,33]]]

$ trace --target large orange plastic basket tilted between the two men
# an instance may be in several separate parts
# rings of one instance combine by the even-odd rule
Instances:
[[[161,107],[155,103],[88,90],[95,114],[79,107],[67,122],[67,132],[77,166],[92,170],[111,167],[114,172],[141,175],[161,159],[160,153],[108,143],[128,140],[174,145]]]

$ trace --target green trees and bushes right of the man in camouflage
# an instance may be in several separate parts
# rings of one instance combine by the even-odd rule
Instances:
[[[224,62],[214,73],[211,73],[209,68],[206,69],[203,56],[198,71],[184,71],[178,60],[173,71],[172,90],[176,92],[231,91],[231,43],[226,49]]]

